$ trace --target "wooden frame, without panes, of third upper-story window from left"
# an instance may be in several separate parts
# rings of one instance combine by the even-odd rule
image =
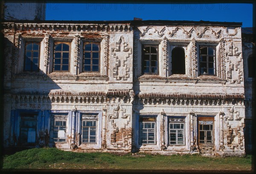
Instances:
[[[96,44],[96,45],[98,45],[99,46],[99,51],[90,51],[90,53],[93,53],[93,52],[98,52],[99,53],[99,57],[98,57],[98,59],[99,59],[99,64],[98,64],[98,66],[99,66],[99,70],[98,71],[92,71],[92,66],[93,66],[93,64],[92,64],[92,62],[93,62],[93,58],[92,58],[92,56],[93,56],[93,54],[91,54],[91,58],[90,58],[90,71],[85,71],[84,70],[84,53],[85,52],[87,52],[87,51],[85,51],[85,45],[87,45],[87,44]],[[82,53],[83,53],[83,55],[82,55],[82,65],[81,65],[81,73],[100,73],[100,65],[101,65],[101,61],[100,61],[100,59],[101,59],[101,41],[99,41],[99,40],[96,40],[96,41],[86,41],[86,42],[83,42],[83,51],[82,51]]]

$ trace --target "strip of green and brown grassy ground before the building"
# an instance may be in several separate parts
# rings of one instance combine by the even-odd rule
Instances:
[[[251,170],[251,156],[202,157],[200,155],[148,155],[76,153],[56,148],[29,149],[4,156],[3,168],[44,169],[161,169],[161,170]]]

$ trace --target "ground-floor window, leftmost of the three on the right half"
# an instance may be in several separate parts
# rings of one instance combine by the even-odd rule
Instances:
[[[140,118],[140,144],[156,143],[156,118]]]

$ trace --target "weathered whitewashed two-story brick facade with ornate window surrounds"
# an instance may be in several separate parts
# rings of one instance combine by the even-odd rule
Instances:
[[[5,21],[4,146],[240,156],[241,23]]]

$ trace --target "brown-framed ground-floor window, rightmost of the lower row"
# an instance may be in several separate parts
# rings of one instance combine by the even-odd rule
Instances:
[[[213,143],[213,129],[214,129],[214,118],[213,117],[199,117],[199,143],[212,144]]]

